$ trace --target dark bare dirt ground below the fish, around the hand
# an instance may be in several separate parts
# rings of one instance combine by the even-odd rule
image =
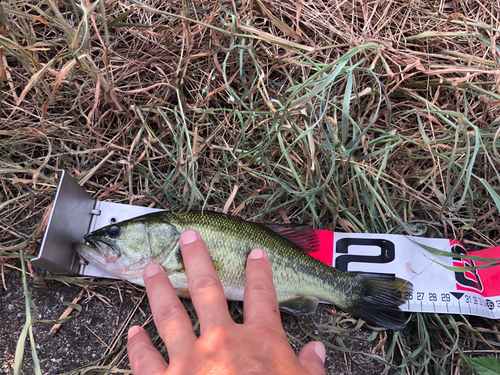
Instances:
[[[19,262],[15,265],[19,267]],[[4,267],[5,287],[0,289],[0,374],[12,374],[17,340],[25,322],[25,300],[23,297],[22,273],[18,269]],[[38,319],[57,319],[66,309],[62,301],[71,302],[77,297],[82,287],[65,285],[60,281],[46,281],[47,289],[34,288],[28,277],[29,291],[38,310]],[[115,340],[126,334],[128,327],[144,324],[150,318],[147,297],[140,289],[131,284],[116,282],[106,286],[85,287],[82,298],[78,302],[82,311],[73,320],[64,323],[57,333],[49,335],[52,324],[35,324],[35,342],[43,374],[63,374],[80,367],[89,366],[109,353],[110,348],[119,350],[105,362],[96,365],[113,364],[119,369],[128,369],[126,356],[120,355],[123,345],[115,345]],[[189,301],[185,302],[191,309]],[[239,305],[230,303],[233,310]],[[76,312],[73,311],[72,315]],[[241,314],[236,312],[236,321],[241,320]],[[34,317],[35,318],[35,317]],[[282,315],[283,325],[289,335],[290,344],[296,351],[312,340],[315,335],[336,345],[335,335],[319,332],[316,324],[331,322],[332,314],[326,306],[320,307],[316,314],[306,317]],[[153,330],[152,324],[149,324]],[[309,333],[309,335],[307,334]],[[368,339],[371,331],[359,330],[355,335]],[[154,333],[152,333],[154,335]],[[125,336],[123,336],[125,337]],[[346,340],[344,344],[352,350],[369,353],[378,343],[373,341]],[[160,345],[160,349],[164,349]],[[377,350],[380,354],[380,350]],[[356,355],[355,360],[363,365],[373,366],[375,362],[363,355]],[[29,344],[25,348],[24,374],[34,374]],[[365,369],[356,365],[348,356],[338,350],[327,350],[327,374],[373,374],[373,369]],[[380,372],[380,371],[377,371]],[[89,371],[86,374],[103,372]],[[119,372],[122,373],[122,372]]]

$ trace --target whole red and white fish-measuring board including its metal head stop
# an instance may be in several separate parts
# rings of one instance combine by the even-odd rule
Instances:
[[[79,262],[73,244],[95,229],[151,212],[149,207],[102,202],[92,198],[63,170],[37,267],[58,274],[114,277],[91,264]],[[79,220],[73,220],[78,217]],[[342,271],[387,273],[409,280],[413,292],[401,306],[405,311],[478,315],[500,318],[500,265],[468,272],[454,272],[436,263],[453,267],[487,265],[461,258],[475,255],[500,260],[500,246],[467,252],[458,242],[446,239],[407,237],[395,234],[358,234],[317,231],[320,249],[309,253]],[[435,256],[429,246],[456,257]]]

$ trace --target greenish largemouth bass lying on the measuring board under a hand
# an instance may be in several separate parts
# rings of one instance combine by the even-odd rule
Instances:
[[[268,255],[282,311],[307,315],[319,303],[334,304],[370,324],[405,327],[399,306],[412,284],[388,274],[343,272],[316,260],[308,252],[319,248],[317,232],[303,225],[262,224],[215,211],[161,211],[97,229],[74,248],[89,263],[142,286],[144,268],[160,264],[177,295],[189,298],[179,248],[179,236],[187,229],[203,238],[227,300],[243,301],[247,257],[261,248]]]

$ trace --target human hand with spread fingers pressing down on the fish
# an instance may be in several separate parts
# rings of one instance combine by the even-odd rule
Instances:
[[[253,250],[247,261],[244,323],[229,314],[220,279],[200,235],[180,237],[189,293],[200,320],[200,337],[175,294],[163,267],[148,266],[144,281],[158,332],[170,363],[155,349],[146,331],[128,332],[128,354],[135,375],[171,374],[325,374],[325,347],[305,345],[298,356],[281,325],[276,289],[267,254]]]

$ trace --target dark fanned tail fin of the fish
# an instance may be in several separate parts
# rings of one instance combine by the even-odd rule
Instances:
[[[392,275],[349,272],[354,276],[359,294],[355,303],[345,306],[350,313],[392,330],[403,329],[406,325],[404,312],[399,308],[406,302],[413,285]]]

